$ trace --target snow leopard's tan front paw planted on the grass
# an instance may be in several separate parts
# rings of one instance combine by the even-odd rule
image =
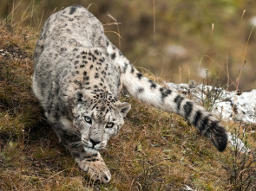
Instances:
[[[111,179],[110,171],[103,160],[76,160],[81,169],[88,172],[92,181],[107,183]]]

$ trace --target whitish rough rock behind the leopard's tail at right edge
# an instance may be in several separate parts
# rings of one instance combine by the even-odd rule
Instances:
[[[237,93],[236,91],[228,92],[221,87],[204,86],[202,84],[188,86],[187,84],[167,83],[167,86],[183,94],[189,94],[200,105],[202,100],[207,97],[206,92],[212,91],[217,96],[217,99],[214,100],[213,114],[222,119],[240,120],[256,124],[256,89],[251,92]]]

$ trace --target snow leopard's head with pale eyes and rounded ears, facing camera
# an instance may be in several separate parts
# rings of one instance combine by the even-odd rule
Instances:
[[[86,151],[102,150],[109,138],[114,137],[124,124],[130,110],[128,103],[121,103],[108,92],[76,92],[73,109],[74,127],[81,133]]]

